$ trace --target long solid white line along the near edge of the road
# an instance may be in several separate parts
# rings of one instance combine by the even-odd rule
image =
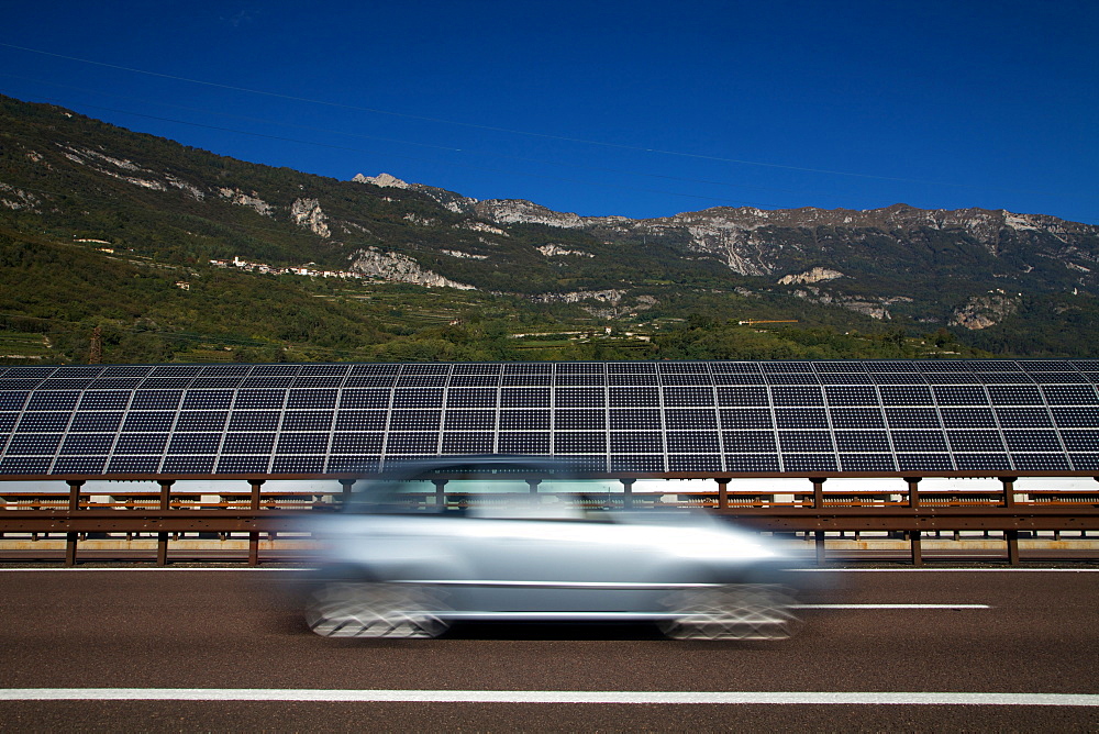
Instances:
[[[1099,707],[1090,693],[901,691],[446,691],[311,688],[8,688],[0,701],[344,701],[397,703],[759,703]]]

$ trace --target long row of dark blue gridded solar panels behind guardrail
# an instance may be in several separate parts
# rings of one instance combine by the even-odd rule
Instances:
[[[1099,471],[1099,360],[0,368],[0,474]]]

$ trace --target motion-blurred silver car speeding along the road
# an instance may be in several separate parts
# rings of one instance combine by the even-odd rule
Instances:
[[[550,461],[413,465],[314,518],[323,563],[306,621],[329,637],[434,637],[465,620],[654,622],[675,638],[798,627],[756,533],[704,513],[606,509],[607,481]]]

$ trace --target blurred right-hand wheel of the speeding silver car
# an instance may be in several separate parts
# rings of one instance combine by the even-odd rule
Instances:
[[[789,590],[774,583],[689,589],[665,601],[676,616],[660,631],[673,640],[786,640],[801,626]]]

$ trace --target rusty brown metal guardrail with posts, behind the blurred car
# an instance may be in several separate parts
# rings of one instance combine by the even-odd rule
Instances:
[[[823,479],[811,481],[811,492],[793,494],[731,491],[729,480],[719,479],[715,491],[640,493],[625,485],[623,492],[554,497],[586,508],[708,508],[758,531],[804,535],[814,542],[821,563],[828,536],[836,533],[854,533],[856,541],[866,532],[900,535],[917,565],[923,563],[926,533],[953,533],[955,538],[961,532],[1001,533],[1006,559],[1018,565],[1020,533],[1052,531],[1059,541],[1061,533],[1099,531],[1099,490],[1018,492],[1007,478],[1000,492],[921,492],[920,480],[912,478],[906,491],[825,493]],[[263,482],[254,481],[249,492],[200,494],[174,492],[173,481],[159,483],[157,492],[84,492],[81,481],[69,481],[68,493],[0,492],[0,542],[29,535],[34,545],[63,534],[65,564],[74,565],[80,543],[97,540],[96,535],[126,541],[155,537],[156,563],[165,565],[173,537],[200,534],[224,541],[243,534],[248,543],[247,561],[256,565],[263,536],[269,540],[296,531],[303,513],[337,510],[351,491],[351,483],[343,482],[342,490],[331,493],[266,493]],[[468,493],[446,492],[440,486],[436,492],[409,494],[408,501],[463,507],[468,498]]]

